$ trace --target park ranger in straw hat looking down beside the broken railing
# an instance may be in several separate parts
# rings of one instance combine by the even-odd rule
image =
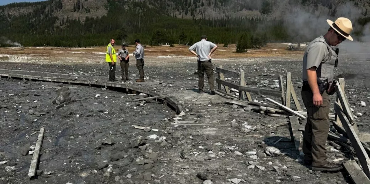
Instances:
[[[341,164],[327,161],[325,143],[329,133],[330,95],[336,91],[334,67],[338,61],[338,49],[344,40],[353,41],[353,28],[348,18],[327,20],[329,30],[307,45],[303,55],[302,99],[307,109],[307,124],[303,133],[303,164],[313,171],[338,171]],[[334,86],[334,87],[333,87]]]

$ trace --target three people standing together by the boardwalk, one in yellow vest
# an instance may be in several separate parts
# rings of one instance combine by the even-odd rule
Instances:
[[[115,66],[117,62],[117,57],[120,59],[121,65],[121,76],[122,81],[128,81],[130,78],[128,77],[128,67],[129,67],[129,52],[127,50],[127,44],[122,43],[120,50],[118,50],[117,54],[114,50],[115,40],[111,39],[110,43],[107,46],[107,53],[105,54],[105,61],[109,64],[109,81],[115,82]],[[136,50],[132,53],[136,59],[136,67],[139,71],[139,79],[136,82],[144,82],[144,47],[140,44],[140,40],[135,40]],[[117,56],[116,56],[117,55]]]

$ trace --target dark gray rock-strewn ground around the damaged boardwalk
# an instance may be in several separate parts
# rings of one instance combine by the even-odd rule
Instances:
[[[36,56],[32,59],[37,61]],[[274,80],[277,76],[292,72],[293,85],[301,99],[302,64],[299,58],[213,61],[215,66],[222,65],[226,69],[243,69],[249,86],[268,89],[276,88]],[[138,75],[134,62],[130,63],[130,75]],[[108,78],[108,67],[98,58],[95,64],[40,60],[32,63],[3,61],[1,66],[1,69]],[[369,120],[369,110],[367,106],[360,106],[361,101],[369,103],[367,60],[354,61],[350,55],[345,55],[339,66],[336,74],[346,79],[345,91],[350,105],[355,115],[362,114],[357,115],[357,121],[363,123],[359,130],[370,132],[370,126],[365,123]],[[351,182],[345,171],[313,172],[302,166],[300,152],[290,142],[288,126],[272,126],[288,122],[287,118],[233,108],[223,103],[221,96],[198,94],[193,86],[198,84],[195,71],[193,58],[148,57],[146,82],[130,82],[175,99],[186,109],[179,121],[213,126],[174,126],[171,123],[175,112],[165,105],[149,100],[145,106],[140,106],[140,102],[132,101],[138,96],[88,86],[71,88],[71,96],[81,99],[100,94],[103,98],[85,99],[54,110],[51,100],[56,96],[55,89],[43,89],[42,86],[57,84],[1,79],[0,136],[3,143],[0,144],[0,161],[7,163],[0,166],[0,182],[200,184],[205,179],[220,184],[238,183],[239,180],[241,184]],[[117,74],[119,72],[120,67]],[[237,79],[229,81],[236,82]],[[208,89],[207,84],[205,89]],[[251,95],[258,101],[266,97]],[[333,96],[332,102],[334,100]],[[151,131],[135,129],[132,125],[150,126]],[[37,133],[33,133],[42,126],[46,132],[38,168],[43,174],[30,181],[27,173],[32,155],[21,153],[28,150],[27,146],[35,145]],[[274,144],[280,138],[283,139]],[[285,155],[266,155],[266,146],[274,146]],[[329,159],[356,157],[344,147],[336,150],[329,144],[327,146]],[[11,166],[15,170],[7,172],[5,167]]]

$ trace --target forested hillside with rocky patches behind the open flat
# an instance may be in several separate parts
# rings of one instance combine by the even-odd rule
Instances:
[[[85,47],[110,38],[132,44],[192,44],[201,34],[216,43],[247,39],[309,41],[326,18],[349,16],[356,35],[367,24],[366,0],[49,0],[0,6],[1,40],[25,46]],[[304,23],[304,24],[303,24]],[[323,25],[322,27],[317,24]],[[313,30],[307,30],[313,29]],[[304,31],[301,31],[304,30]],[[308,32],[308,33],[306,33]],[[0,43],[3,46],[9,45]]]

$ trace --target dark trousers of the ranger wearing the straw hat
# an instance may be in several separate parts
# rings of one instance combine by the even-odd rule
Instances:
[[[322,94],[323,104],[320,107],[313,105],[313,93],[309,86],[302,88],[302,100],[307,109],[307,124],[303,132],[303,153],[305,160],[312,160],[313,167],[319,167],[328,161],[325,144],[329,134],[330,96]]]

